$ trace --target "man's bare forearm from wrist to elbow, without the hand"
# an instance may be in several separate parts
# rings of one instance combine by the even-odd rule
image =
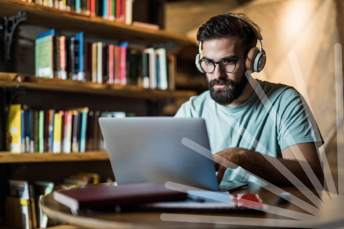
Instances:
[[[283,172],[284,168],[280,164],[283,164],[284,167],[292,172],[302,183],[309,187],[312,186],[308,176],[303,171],[298,160],[277,159],[251,150],[241,148],[237,149],[240,151],[240,159],[238,165],[272,184],[292,185],[292,183],[281,173]],[[304,163],[306,165],[307,162],[301,161],[301,163]],[[323,183],[321,167],[319,168],[313,164],[310,164],[310,166],[315,172],[315,175],[319,179],[319,181]],[[276,168],[279,168],[281,172],[279,172]]]

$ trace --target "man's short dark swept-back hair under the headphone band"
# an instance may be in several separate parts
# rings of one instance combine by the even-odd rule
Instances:
[[[221,39],[227,37],[239,37],[247,48],[256,46],[257,37],[247,22],[234,17],[237,15],[251,22],[260,31],[260,27],[243,13],[225,13],[209,19],[198,28],[197,41],[207,41],[211,39]]]

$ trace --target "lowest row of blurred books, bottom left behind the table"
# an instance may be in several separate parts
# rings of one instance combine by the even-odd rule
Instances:
[[[97,173],[80,172],[65,178],[62,183],[51,181],[9,180],[10,195],[6,197],[6,224],[22,229],[46,228],[56,222],[49,220],[40,209],[40,201],[44,195],[53,190],[70,188],[79,185],[98,184],[100,176]]]

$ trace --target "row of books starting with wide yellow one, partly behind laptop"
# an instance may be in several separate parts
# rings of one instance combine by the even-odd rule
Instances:
[[[126,117],[126,113],[89,111],[87,107],[32,110],[13,104],[8,116],[7,149],[13,153],[106,150],[99,117]]]

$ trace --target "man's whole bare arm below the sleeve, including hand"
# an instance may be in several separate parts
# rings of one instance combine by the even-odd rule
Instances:
[[[289,169],[302,183],[308,187],[312,187],[310,180],[300,165],[300,163],[306,162],[301,161],[300,157],[294,157],[294,154],[292,153],[292,151],[296,152],[294,149],[297,147],[299,147],[304,158],[309,163],[320,183],[323,184],[323,172],[314,142],[302,143],[287,147],[282,151],[283,159],[277,160],[279,160],[284,167]],[[272,184],[286,186],[292,185],[290,181],[269,162],[269,160],[273,160],[275,158],[263,155],[261,153],[242,148],[229,148],[214,154],[213,157],[215,161],[215,168],[218,171],[218,182],[221,182],[227,168],[235,168],[233,167],[233,164],[226,162],[226,160],[228,160]]]

